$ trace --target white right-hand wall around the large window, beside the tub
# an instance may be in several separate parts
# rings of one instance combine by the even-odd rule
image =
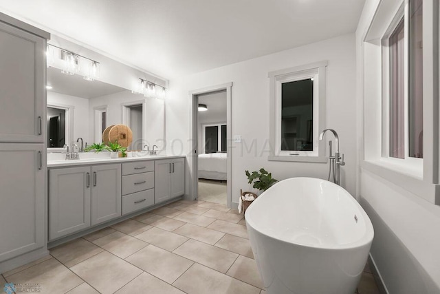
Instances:
[[[362,38],[379,3],[366,0],[356,31],[360,149],[364,120],[362,89],[368,87],[362,85]],[[371,257],[388,293],[440,293],[440,207],[364,169],[359,181],[360,203],[375,228]]]

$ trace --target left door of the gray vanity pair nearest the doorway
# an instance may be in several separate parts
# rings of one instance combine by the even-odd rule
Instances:
[[[154,162],[154,203],[171,198],[171,160],[155,160]]]

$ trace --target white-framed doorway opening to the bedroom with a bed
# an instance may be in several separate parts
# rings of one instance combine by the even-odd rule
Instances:
[[[226,83],[190,92],[193,144],[192,156],[188,160],[192,200],[226,204],[228,207],[232,203],[231,88],[232,83]],[[218,104],[223,104],[223,107]],[[199,105],[208,109],[205,116],[200,115]],[[214,112],[216,109],[218,116]],[[212,168],[213,165],[223,165],[223,169]]]

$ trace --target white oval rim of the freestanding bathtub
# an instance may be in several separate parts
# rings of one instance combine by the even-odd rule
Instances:
[[[320,178],[311,178],[311,177],[296,177],[296,178],[287,178],[285,180],[281,180],[279,182],[276,182],[275,185],[278,185],[281,182],[284,182],[286,180],[301,180],[301,179],[307,179],[307,180],[316,180],[319,182],[329,182],[328,180],[323,180]],[[280,238],[276,238],[274,235],[270,235],[267,234],[263,231],[261,231],[260,229],[256,229],[255,222],[252,219],[251,213],[254,210],[252,207],[254,204],[258,203],[260,199],[262,199],[262,197],[265,195],[265,193],[267,193],[267,191],[269,191],[270,189],[267,189],[266,191],[264,191],[263,193],[261,193],[261,195],[256,198],[256,200],[254,200],[254,203],[252,203],[252,205],[250,205],[250,207],[248,207],[248,209],[246,209],[245,211],[245,222],[246,222],[246,227],[250,227],[251,229],[253,229],[254,231],[257,231],[258,233],[260,233],[261,235],[265,235],[267,238],[272,238],[274,240],[277,240],[278,242],[285,242],[287,244],[292,244],[295,246],[301,246],[304,248],[311,248],[311,249],[326,249],[326,250],[342,250],[342,249],[355,249],[355,248],[360,248],[362,246],[366,246],[368,244],[371,244],[373,242],[373,238],[374,238],[374,228],[373,228],[373,224],[371,223],[371,220],[369,218],[369,216],[366,214],[366,212],[364,211],[364,209],[362,208],[362,206],[359,204],[358,200],[356,200],[351,193],[349,193],[349,191],[347,191],[346,189],[344,189],[344,187],[341,187],[339,185],[336,185],[333,182],[329,182],[331,185],[337,186],[338,188],[344,190],[351,198],[351,202],[353,202],[353,204],[358,207],[360,213],[362,214],[362,218],[364,218],[364,223],[365,223],[365,233],[364,235],[362,235],[362,237],[358,240],[355,240],[354,242],[350,242],[350,243],[346,243],[346,244],[337,244],[336,246],[323,246],[323,245],[310,245],[310,244],[301,244],[301,243],[296,243],[296,242],[289,242],[287,240],[283,240]],[[275,186],[274,185],[274,186]],[[273,186],[272,186],[273,187]]]

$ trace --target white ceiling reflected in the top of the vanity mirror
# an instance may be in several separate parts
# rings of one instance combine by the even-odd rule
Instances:
[[[86,81],[79,74],[62,74],[61,70],[54,67],[47,68],[47,85],[52,86],[52,89],[47,91],[87,99],[126,91],[122,87],[101,81]]]

